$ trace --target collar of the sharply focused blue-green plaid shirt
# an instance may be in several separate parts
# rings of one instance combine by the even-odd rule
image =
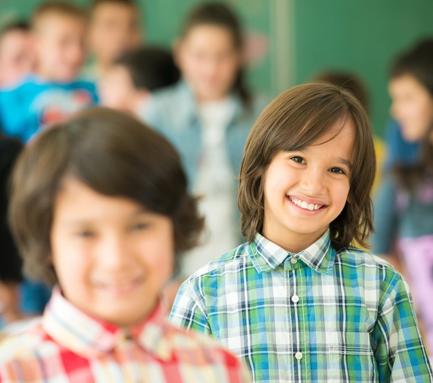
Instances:
[[[254,240],[250,244],[250,258],[258,273],[266,273],[276,269],[279,265],[286,268],[300,267],[300,262],[291,265],[291,258],[297,258],[302,260],[304,265],[319,273],[331,274],[335,260],[335,250],[331,247],[329,230],[326,230],[322,237],[311,246],[300,251],[300,253],[286,251],[264,238],[263,235],[256,233]]]

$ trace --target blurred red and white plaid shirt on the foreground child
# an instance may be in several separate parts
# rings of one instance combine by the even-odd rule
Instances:
[[[169,325],[161,305],[127,331],[95,320],[58,288],[33,328],[0,344],[0,382],[250,382],[214,340]]]

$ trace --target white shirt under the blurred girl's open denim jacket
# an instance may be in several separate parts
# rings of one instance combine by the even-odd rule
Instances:
[[[202,127],[202,154],[194,184],[201,197],[199,209],[205,217],[203,244],[183,259],[183,274],[189,276],[225,251],[237,246],[237,181],[228,160],[225,133],[234,114],[230,98],[199,105]]]

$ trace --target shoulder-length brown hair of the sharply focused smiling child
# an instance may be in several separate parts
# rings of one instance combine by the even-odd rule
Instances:
[[[333,84],[304,84],[275,98],[252,127],[243,154],[238,204],[241,230],[251,242],[264,220],[264,175],[280,150],[300,150],[331,131],[335,123],[351,119],[355,147],[350,175],[350,203],[331,222],[335,249],[353,239],[368,247],[373,231],[370,190],[376,171],[373,136],[367,113],[359,100]],[[344,124],[342,124],[344,126]]]

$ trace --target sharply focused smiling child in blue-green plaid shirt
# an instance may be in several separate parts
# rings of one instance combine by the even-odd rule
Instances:
[[[197,271],[171,320],[212,334],[255,382],[430,382],[407,285],[367,246],[375,156],[352,93],[304,84],[273,100],[239,178],[248,242]]]

